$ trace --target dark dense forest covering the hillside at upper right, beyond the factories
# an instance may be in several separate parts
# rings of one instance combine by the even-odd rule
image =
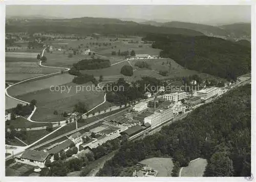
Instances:
[[[251,71],[250,48],[236,42],[207,36],[147,35],[155,41],[153,48],[162,49],[161,57],[174,59],[190,70],[197,70],[228,80]]]

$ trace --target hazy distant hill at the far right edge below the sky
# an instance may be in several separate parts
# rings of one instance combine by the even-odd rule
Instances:
[[[233,33],[237,37],[251,36],[251,24],[250,23],[237,23],[231,25],[220,26],[223,30]]]

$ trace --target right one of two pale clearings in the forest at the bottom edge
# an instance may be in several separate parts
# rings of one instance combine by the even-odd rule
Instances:
[[[183,168],[181,177],[202,177],[206,166],[207,160],[199,158],[196,161],[190,162],[187,167]]]

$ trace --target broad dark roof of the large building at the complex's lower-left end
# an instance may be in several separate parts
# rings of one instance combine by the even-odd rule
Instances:
[[[26,158],[28,160],[34,160],[39,162],[44,162],[48,157],[49,153],[44,151],[36,150],[25,150],[25,152],[20,156],[20,158]]]

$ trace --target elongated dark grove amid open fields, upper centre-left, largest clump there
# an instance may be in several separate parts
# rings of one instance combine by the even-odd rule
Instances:
[[[110,67],[110,60],[108,59],[83,59],[73,64],[76,70],[99,70],[105,67]]]

